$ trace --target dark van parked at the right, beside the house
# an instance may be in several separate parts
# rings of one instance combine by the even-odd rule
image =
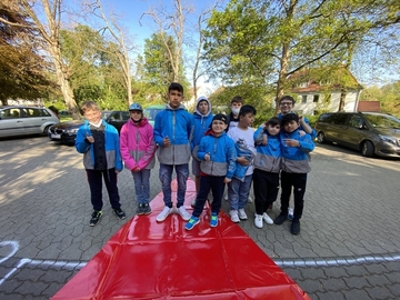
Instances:
[[[320,143],[336,142],[364,157],[400,157],[400,120],[378,112],[322,113],[316,123]]]

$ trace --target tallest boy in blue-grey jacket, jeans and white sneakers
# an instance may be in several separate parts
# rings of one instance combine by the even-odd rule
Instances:
[[[159,146],[157,158],[160,162],[160,181],[166,207],[156,220],[162,222],[174,210],[171,199],[171,181],[173,168],[177,172],[178,193],[177,212],[184,221],[190,214],[183,207],[187,180],[189,177],[190,142],[193,134],[193,117],[181,104],[183,87],[172,82],[168,88],[169,103],[156,116],[154,141]]]

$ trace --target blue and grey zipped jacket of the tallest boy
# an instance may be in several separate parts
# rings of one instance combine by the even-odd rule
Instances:
[[[159,146],[157,158],[163,164],[184,164],[190,160],[190,142],[193,138],[194,121],[183,106],[172,109],[169,104],[156,116],[154,141]],[[168,137],[171,147],[162,146]]]

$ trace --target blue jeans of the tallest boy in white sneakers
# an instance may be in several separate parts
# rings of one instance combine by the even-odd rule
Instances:
[[[160,163],[160,181],[161,188],[163,193],[163,200],[166,207],[172,208],[172,199],[171,199],[171,181],[172,181],[172,171],[173,167],[177,172],[177,180],[178,180],[178,192],[177,192],[177,208],[183,206],[184,202],[184,193],[187,189],[187,180],[189,177],[189,164],[163,164]]]

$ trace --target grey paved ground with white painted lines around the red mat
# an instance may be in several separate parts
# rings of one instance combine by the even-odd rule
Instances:
[[[118,220],[107,202],[89,227],[81,156],[46,137],[0,140],[0,299],[49,299],[134,217],[133,181],[123,171],[129,218]],[[151,197],[160,191],[157,176]],[[300,236],[289,222],[260,230],[250,218],[240,226],[311,299],[400,299],[399,178],[400,160],[318,146]],[[247,211],[253,214],[252,203]],[[270,216],[278,213],[276,204]]]

